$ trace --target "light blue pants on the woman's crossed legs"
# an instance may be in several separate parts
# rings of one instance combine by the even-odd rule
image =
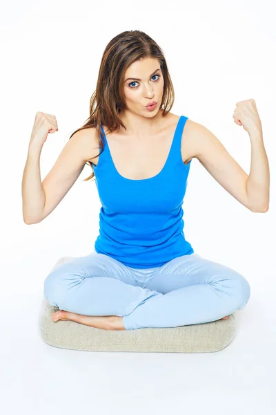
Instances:
[[[132,330],[220,320],[246,306],[250,286],[235,270],[195,252],[138,269],[94,251],[52,270],[44,295],[71,313],[118,315]]]

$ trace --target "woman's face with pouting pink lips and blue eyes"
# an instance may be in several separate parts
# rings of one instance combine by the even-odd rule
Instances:
[[[131,78],[131,79],[128,79]],[[132,79],[132,78],[136,78]],[[164,92],[164,77],[158,59],[150,57],[133,62],[124,76],[124,99],[128,111],[140,116],[155,116],[161,106]],[[149,111],[146,105],[156,101],[155,109]]]

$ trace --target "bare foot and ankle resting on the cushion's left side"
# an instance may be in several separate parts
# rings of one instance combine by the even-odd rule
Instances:
[[[95,327],[96,329],[125,330],[122,322],[123,317],[118,317],[117,315],[81,315],[59,310],[56,313],[52,313],[52,321],[57,322],[58,320],[77,322]]]

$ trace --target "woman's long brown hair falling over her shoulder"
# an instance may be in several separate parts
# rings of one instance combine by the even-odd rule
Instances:
[[[160,46],[146,33],[141,30],[127,30],[115,36],[106,46],[101,58],[97,88],[90,98],[90,116],[70,138],[81,129],[95,127],[101,147],[99,156],[103,151],[101,138],[104,140],[100,126],[105,125],[110,132],[119,131],[120,125],[126,129],[118,116],[121,110],[127,109],[124,102],[124,75],[128,66],[146,57],[159,59],[164,77],[164,93],[160,108],[163,107],[162,116],[166,116],[175,101],[175,92],[164,54]],[[92,168],[92,174],[83,181],[95,176],[92,163],[88,163]]]

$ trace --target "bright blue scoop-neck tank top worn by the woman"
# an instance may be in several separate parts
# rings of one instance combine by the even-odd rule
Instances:
[[[188,117],[181,116],[161,172],[140,180],[121,176],[104,136],[103,151],[93,165],[101,201],[95,251],[132,268],[155,268],[194,252],[184,236],[182,204],[190,162],[181,158],[181,136]]]

